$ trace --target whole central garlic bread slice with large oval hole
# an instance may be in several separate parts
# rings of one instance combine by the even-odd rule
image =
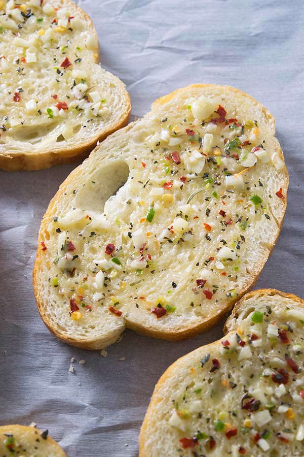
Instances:
[[[288,173],[274,134],[249,95],[193,85],[100,144],[42,221],[33,284],[51,332],[101,349],[125,327],[179,340],[217,322],[280,232]]]

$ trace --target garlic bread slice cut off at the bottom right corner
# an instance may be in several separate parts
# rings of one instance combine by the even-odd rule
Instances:
[[[139,457],[304,455],[304,302],[247,293],[225,336],[179,358],[151,398]]]

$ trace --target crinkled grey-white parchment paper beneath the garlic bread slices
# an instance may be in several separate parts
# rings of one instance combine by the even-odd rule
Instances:
[[[284,228],[256,287],[304,298],[303,3],[79,4],[97,28],[102,66],[127,85],[133,117],[160,95],[196,82],[239,87],[271,110],[290,187]],[[69,457],[135,457],[160,375],[177,357],[219,338],[223,322],[180,343],[127,331],[107,357],[64,345],[48,332],[32,292],[36,237],[50,199],[73,167],[0,172],[0,424],[35,421]]]

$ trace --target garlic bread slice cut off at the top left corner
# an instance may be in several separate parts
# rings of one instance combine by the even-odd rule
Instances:
[[[0,2],[0,168],[85,157],[124,126],[124,84],[103,70],[90,17],[70,0]]]

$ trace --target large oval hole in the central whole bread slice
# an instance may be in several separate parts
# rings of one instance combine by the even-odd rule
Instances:
[[[112,161],[93,172],[77,193],[77,208],[103,213],[106,202],[126,184],[129,172],[124,160]]]

